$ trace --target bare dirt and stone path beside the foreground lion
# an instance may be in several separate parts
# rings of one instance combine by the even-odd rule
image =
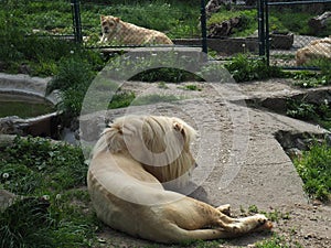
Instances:
[[[188,90],[185,85],[195,85],[196,90]],[[329,93],[330,87],[301,89],[292,86],[290,79],[270,79],[237,85],[130,82],[121,89],[134,90],[138,98],[154,94],[184,98],[166,105],[116,109],[108,114],[108,118],[128,112],[169,115],[183,118],[196,128],[201,136],[193,151],[199,166],[193,173],[194,187],[186,194],[214,206],[228,203],[234,216],[247,214],[255,206],[274,218],[273,233],[191,247],[255,247],[255,242],[275,235],[284,239],[286,247],[298,247],[298,244],[309,248],[331,246],[330,204],[310,201],[305,195],[301,179],[275,138],[280,130],[311,134],[325,133],[325,130],[256,106],[256,103],[266,100],[269,106],[277,105],[279,101],[274,104],[270,100],[311,90]],[[246,103],[255,103],[255,106]],[[170,247],[132,238],[110,228],[99,234],[99,244],[100,247]]]

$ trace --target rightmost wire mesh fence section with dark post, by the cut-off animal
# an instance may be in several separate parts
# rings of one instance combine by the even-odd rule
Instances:
[[[313,26],[312,20],[331,11],[331,0],[259,0],[259,53],[270,65],[285,68],[313,68],[299,65],[297,51],[311,41],[331,35],[328,25]],[[275,17],[289,20],[287,26],[275,22]]]

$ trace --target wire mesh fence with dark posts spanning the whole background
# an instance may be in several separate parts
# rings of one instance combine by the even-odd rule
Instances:
[[[4,14],[8,15],[6,18],[8,23],[4,25],[4,28],[8,26],[8,29],[14,29],[17,25],[24,26],[24,20],[29,19],[29,24],[33,25],[33,30],[31,31],[31,26],[26,25],[26,32],[24,30],[24,33],[28,34],[33,32],[38,35],[54,35],[65,39],[73,39],[76,42],[83,42],[83,44],[88,47],[110,47],[122,45],[141,46],[149,42],[151,45],[158,45],[158,39],[160,39],[161,45],[164,45],[163,43],[166,43],[166,45],[172,45],[167,43],[169,42],[167,39],[168,36],[171,39],[174,45],[200,46],[205,53],[207,50],[217,51],[217,48],[222,48],[226,52],[226,56],[232,56],[235,53],[249,52],[261,57],[266,57],[266,61],[269,64],[279,65],[282,67],[296,67],[295,55],[298,48],[307,45],[314,39],[331,34],[331,32],[328,33],[331,30],[330,21],[327,23],[329,26],[328,29],[321,28],[320,30],[313,30],[318,31],[317,33],[308,32],[307,30],[309,26],[308,22],[311,17],[322,14],[325,11],[331,11],[331,0],[282,0],[281,2],[279,0],[229,1],[232,4],[231,8],[233,8],[234,12],[236,11],[235,8],[257,9],[257,15],[254,20],[258,22],[258,34],[253,37],[212,37],[211,26],[206,29],[206,21],[209,17],[206,15],[205,11],[205,6],[207,2],[205,0],[200,0],[196,3],[192,3],[196,4],[196,9],[193,7],[195,12],[192,14],[191,23],[185,23],[185,25],[182,26],[180,22],[171,23],[172,26],[178,28],[178,33],[174,31],[169,31],[169,25],[164,26],[164,23],[169,24],[167,11],[169,11],[169,15],[173,14],[172,12],[175,11],[174,6],[167,6],[167,3],[164,3],[166,6],[162,10],[163,15],[158,15],[161,12],[158,12],[159,10],[157,8],[153,9],[153,7],[150,7],[150,10],[136,8],[139,6],[138,3],[142,2],[139,0],[62,0],[54,1],[56,2],[56,7],[54,7],[53,3],[51,4],[52,1],[50,0],[3,0],[1,3],[2,2],[3,4],[1,4],[1,8],[6,10],[8,9],[8,11],[4,11]],[[120,4],[115,4],[114,2]],[[33,4],[34,8],[40,8],[42,11],[40,13],[35,12],[35,9],[32,9],[31,4]],[[134,9],[132,4],[136,9]],[[121,6],[122,9],[119,10],[118,6]],[[22,7],[28,14],[23,14]],[[17,11],[18,9],[20,9],[20,12]],[[31,11],[34,12],[30,17],[29,13],[32,13]],[[139,34],[137,35],[137,33],[135,33],[132,36],[127,34],[128,37],[116,36],[114,42],[110,33],[109,37],[105,37],[105,40],[113,41],[103,43],[100,42],[100,15],[103,14],[119,15],[122,18],[122,21],[161,31],[164,36],[158,32],[146,33],[146,30],[142,30],[143,32],[140,35],[140,40]],[[184,11],[178,12],[175,17],[177,19],[181,19],[183,14],[186,13]],[[20,15],[21,18],[13,19],[12,15]],[[279,26],[279,24],[275,22],[275,17],[290,17],[292,19],[306,17],[306,19],[300,20],[300,26]],[[151,19],[157,20],[157,24],[159,24],[159,26],[154,25],[156,22],[150,22]],[[11,20],[12,22],[20,20],[20,23],[10,23]],[[108,33],[111,32],[109,25],[110,24],[108,23]],[[300,30],[302,26],[306,30]],[[183,30],[184,32],[181,32]],[[183,36],[183,34],[186,36]],[[122,44],[124,41],[127,44]]]

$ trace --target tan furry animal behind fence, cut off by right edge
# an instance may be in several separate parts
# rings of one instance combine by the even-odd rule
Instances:
[[[303,65],[312,58],[331,58],[331,37],[310,42],[296,53],[297,65]]]

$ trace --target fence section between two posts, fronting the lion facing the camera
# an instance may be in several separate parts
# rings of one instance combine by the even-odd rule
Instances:
[[[167,29],[169,25],[167,26],[166,24],[166,12],[169,11],[172,15],[178,15],[178,19],[181,19],[183,14],[188,15],[188,13],[175,13],[175,10],[170,7],[170,3],[164,1],[164,4],[161,6],[163,8],[162,15],[158,17],[159,10],[158,8],[153,9],[152,1],[150,6],[148,6],[150,10],[141,10],[141,8],[136,4],[137,2],[131,1],[130,4],[122,4],[119,10],[118,7],[111,4],[111,2],[71,0],[75,40],[77,42],[84,41],[85,45],[89,47],[164,46],[173,45],[171,40],[182,37],[182,34],[184,33],[186,39],[199,39],[202,50],[204,52],[207,51],[204,0],[201,0],[201,4],[196,6],[197,14],[194,15],[194,19],[191,17],[191,23],[185,23],[184,25],[180,21],[179,23],[172,23],[173,28],[177,29],[171,29],[170,31]],[[134,10],[131,6],[136,6],[136,9]],[[90,17],[85,14],[90,9],[97,9],[98,15],[95,15],[95,20],[102,19],[98,23],[94,22],[94,25],[92,25],[90,20],[88,20]],[[150,22],[151,19],[158,19],[157,23],[159,26],[153,26]],[[153,28],[157,30],[153,30]],[[179,33],[175,33],[173,30],[177,30]],[[184,32],[181,33],[182,30]]]

